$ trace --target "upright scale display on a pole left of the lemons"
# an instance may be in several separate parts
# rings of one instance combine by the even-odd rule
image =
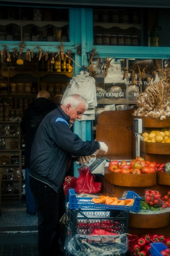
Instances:
[[[134,133],[136,136],[136,157],[140,156],[140,134],[142,133],[142,119],[134,118]]]

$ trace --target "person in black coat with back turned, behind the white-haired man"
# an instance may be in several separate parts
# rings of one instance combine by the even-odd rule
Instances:
[[[32,196],[29,184],[29,168],[30,168],[30,153],[31,146],[34,140],[37,128],[45,115],[54,110],[56,105],[50,101],[50,94],[46,90],[41,90],[37,94],[37,98],[30,104],[29,108],[24,111],[23,118],[20,123],[20,128],[25,135],[25,168],[26,168],[26,207],[27,213],[30,215],[36,214],[36,204]]]

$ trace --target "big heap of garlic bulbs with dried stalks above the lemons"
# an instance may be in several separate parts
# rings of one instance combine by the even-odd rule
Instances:
[[[134,116],[150,116],[160,120],[170,117],[170,68],[158,69],[157,72],[160,79],[157,84],[151,80],[145,91],[137,96],[138,108]]]

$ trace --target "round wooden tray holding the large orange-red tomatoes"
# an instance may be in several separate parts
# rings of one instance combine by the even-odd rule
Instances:
[[[110,183],[124,187],[147,187],[156,185],[156,172],[149,174],[124,174],[104,169],[104,178]]]

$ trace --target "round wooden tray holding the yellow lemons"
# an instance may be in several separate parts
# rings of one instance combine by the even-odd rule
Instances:
[[[148,154],[157,155],[169,155],[170,154],[170,143],[160,142],[140,142],[141,151]]]

